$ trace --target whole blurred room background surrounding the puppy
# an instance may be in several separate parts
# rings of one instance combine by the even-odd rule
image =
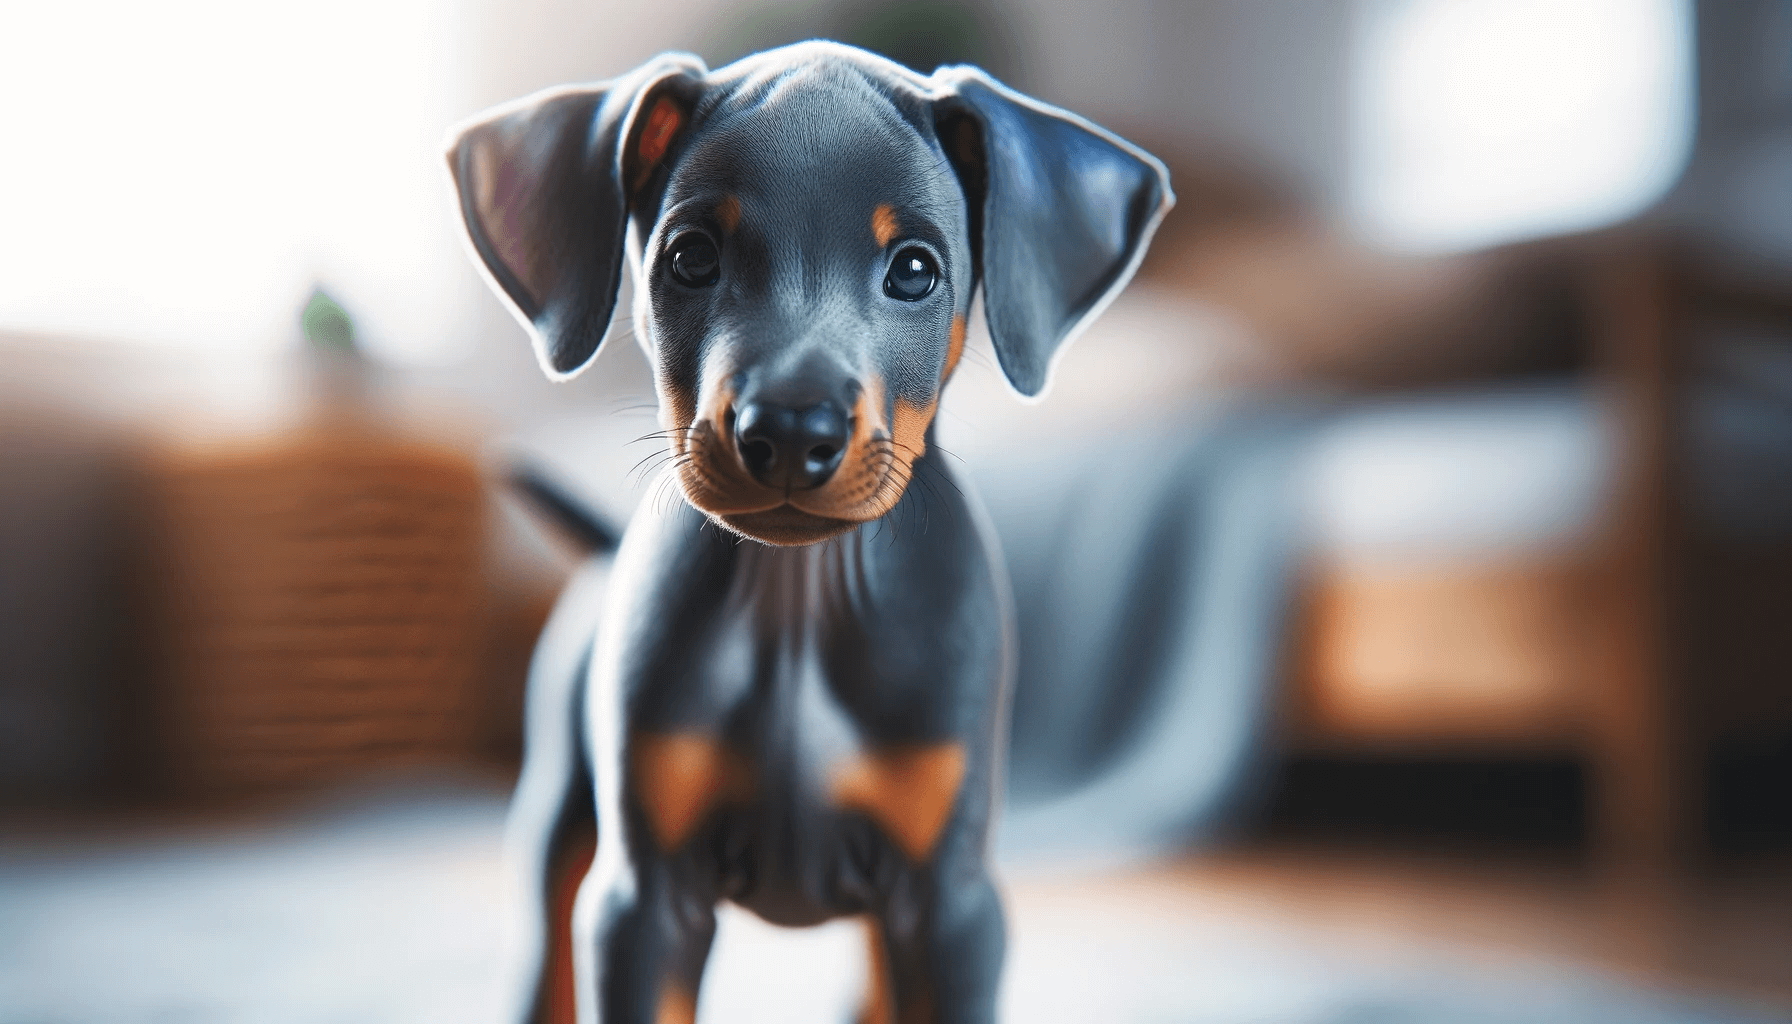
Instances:
[[[625,337],[541,378],[444,131],[812,36],[1179,195],[1047,404],[975,335],[944,402],[1020,595],[1007,1017],[1792,1020],[1792,2],[4,23],[0,1022],[498,1013],[584,558],[505,477],[625,522],[654,414]],[[701,1013],[862,977],[729,915]]]

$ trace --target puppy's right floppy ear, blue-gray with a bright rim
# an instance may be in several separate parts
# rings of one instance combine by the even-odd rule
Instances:
[[[1038,396],[1052,359],[1107,307],[1176,204],[1158,158],[978,68],[934,72],[939,142],[971,210],[989,339]]]

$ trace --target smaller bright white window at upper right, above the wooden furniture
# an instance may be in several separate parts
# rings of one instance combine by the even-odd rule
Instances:
[[[1371,0],[1349,206],[1374,242],[1468,249],[1609,224],[1692,147],[1686,0]]]

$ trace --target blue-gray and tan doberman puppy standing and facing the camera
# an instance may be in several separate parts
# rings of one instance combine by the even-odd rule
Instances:
[[[548,377],[597,353],[627,260],[685,499],[643,502],[536,656],[518,1019],[690,1020],[733,900],[864,915],[867,1019],[993,1020],[1011,615],[934,412],[978,285],[1004,375],[1045,389],[1170,208],[1163,165],[977,68],[835,43],[538,93],[450,165]]]

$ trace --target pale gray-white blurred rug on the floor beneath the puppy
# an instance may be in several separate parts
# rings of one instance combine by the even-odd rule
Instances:
[[[387,794],[276,827],[0,841],[0,1024],[498,1020],[502,794]],[[1036,868],[1034,868],[1036,870]],[[1468,950],[1398,958],[1142,900],[1011,902],[1011,1022],[1668,1024],[1772,1020]],[[1047,893],[1041,898],[1038,893]],[[726,913],[701,1020],[842,1022],[857,925]]]

